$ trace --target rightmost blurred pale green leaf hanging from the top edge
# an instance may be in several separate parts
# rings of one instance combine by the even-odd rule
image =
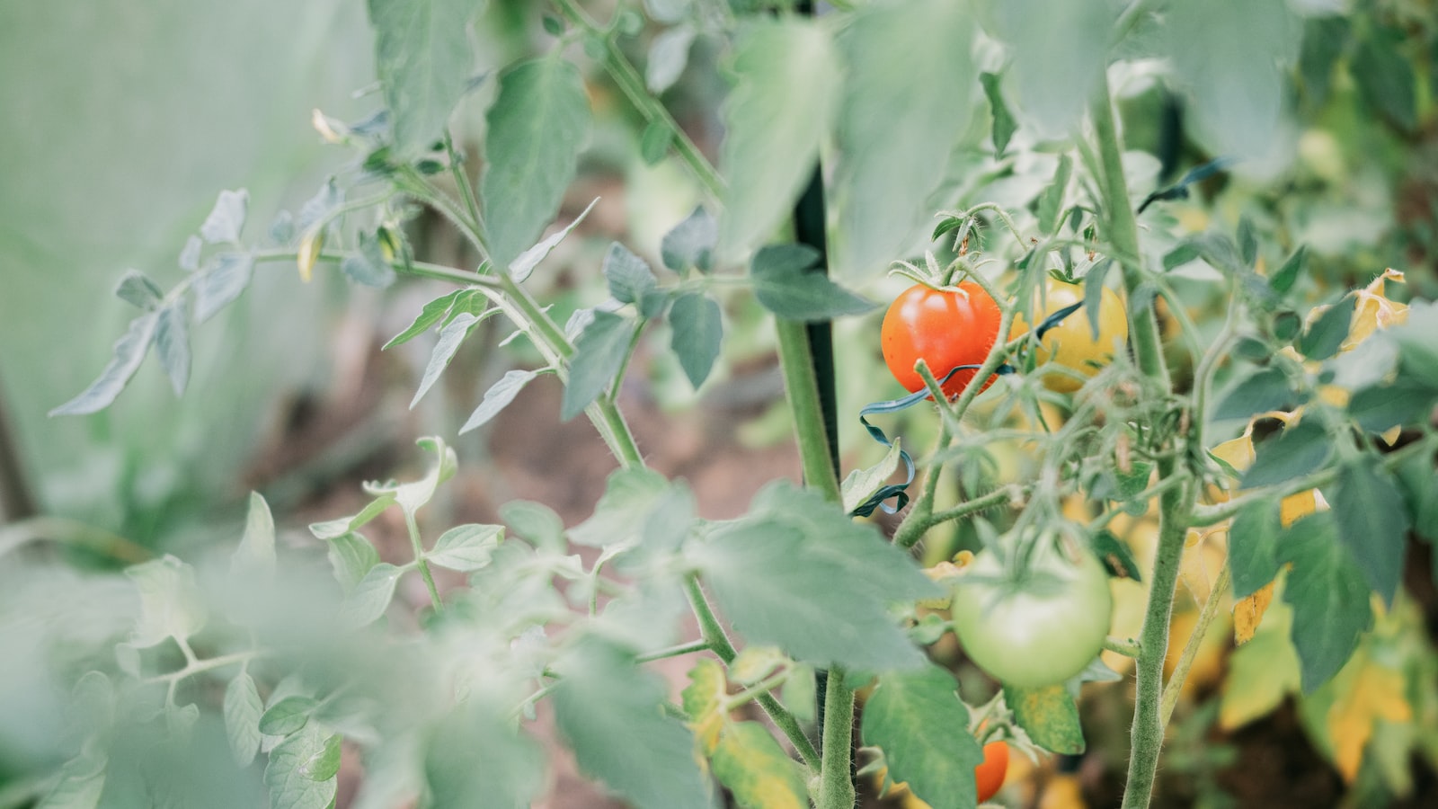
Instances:
[[[1192,96],[1202,143],[1217,154],[1264,155],[1284,109],[1284,66],[1301,36],[1288,4],[1181,3],[1166,23],[1175,78]]]

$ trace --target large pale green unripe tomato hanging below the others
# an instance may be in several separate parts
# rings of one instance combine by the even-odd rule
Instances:
[[[1027,564],[984,550],[953,587],[953,629],[963,652],[1001,682],[1064,682],[1103,649],[1113,612],[1109,574],[1086,550],[1064,554],[1047,538]]]

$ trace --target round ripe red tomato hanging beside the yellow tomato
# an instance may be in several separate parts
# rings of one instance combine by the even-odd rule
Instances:
[[[1001,317],[994,298],[972,281],[959,284],[956,291],[915,284],[884,314],[879,333],[884,363],[906,390],[922,390],[923,377],[913,370],[919,358],[936,379],[955,366],[982,364],[998,338]],[[943,393],[953,399],[972,380],[972,370],[959,371],[943,384]],[[992,381],[989,377],[984,387]]]

